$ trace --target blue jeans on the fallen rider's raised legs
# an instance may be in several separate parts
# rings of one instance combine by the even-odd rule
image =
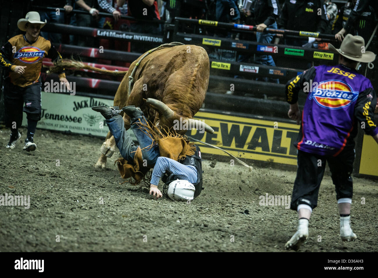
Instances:
[[[139,142],[139,146],[142,149],[143,159],[147,160],[147,165],[155,165],[156,160],[160,156],[160,150],[157,144],[154,144],[152,147],[152,139],[147,136],[143,129],[139,129],[139,119],[144,124],[147,124],[146,118],[144,116],[139,116],[137,118],[131,119],[131,129],[133,130],[136,139]],[[108,120],[105,120],[106,124],[109,127],[110,132],[114,136],[119,152],[125,160],[133,161],[135,151],[138,149],[138,146],[135,146],[133,140],[130,138],[130,135],[126,132],[125,123],[122,119],[122,116],[118,115]],[[147,148],[146,148],[147,147]],[[149,148],[150,147],[150,148]],[[143,149],[146,148],[146,149]]]

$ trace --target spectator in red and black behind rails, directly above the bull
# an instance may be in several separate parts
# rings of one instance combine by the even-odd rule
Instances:
[[[117,0],[118,6],[123,6],[125,0]],[[127,10],[129,16],[136,19],[144,20],[160,20],[158,3],[156,0],[131,0],[127,2]],[[160,24],[152,24],[143,21],[130,21],[130,30],[133,33],[160,35]],[[146,52],[151,48],[155,48],[156,43],[149,42],[132,42],[131,49],[136,52]]]

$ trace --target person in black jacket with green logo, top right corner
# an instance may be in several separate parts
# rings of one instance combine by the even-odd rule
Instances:
[[[353,9],[355,8],[356,2],[357,0],[349,0],[339,9],[339,16],[336,17],[332,25],[333,34],[336,34],[341,31],[342,28],[345,28],[350,14],[352,14]],[[357,35],[363,37],[365,43],[367,44],[375,28],[376,20],[376,11],[374,11],[372,6],[367,5],[356,20],[353,21],[348,33],[354,36]],[[337,39],[340,40],[341,36],[338,36]]]

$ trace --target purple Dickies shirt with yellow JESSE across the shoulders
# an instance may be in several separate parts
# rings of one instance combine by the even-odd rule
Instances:
[[[352,132],[359,92],[372,88],[369,79],[343,65],[314,67],[316,75],[302,115],[302,140],[297,149],[319,155],[338,155]],[[308,89],[308,90],[307,90]],[[372,104],[375,107],[375,103]],[[378,128],[375,127],[375,132]]]

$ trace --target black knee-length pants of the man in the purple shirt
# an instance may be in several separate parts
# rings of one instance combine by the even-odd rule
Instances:
[[[345,147],[336,157],[298,151],[297,177],[294,182],[290,208],[297,210],[299,204],[306,204],[311,208],[318,205],[319,187],[323,179],[326,162],[330,167],[332,181],[335,185],[336,200],[352,198],[353,182],[350,175],[353,172],[355,158],[353,147]]]

